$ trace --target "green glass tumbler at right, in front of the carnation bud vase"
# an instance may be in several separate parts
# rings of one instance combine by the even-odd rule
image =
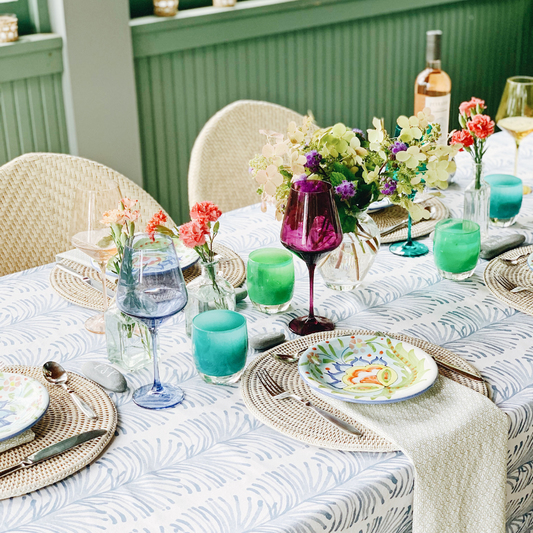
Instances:
[[[481,233],[476,222],[449,218],[435,226],[433,256],[443,278],[469,278],[476,270],[480,251]]]

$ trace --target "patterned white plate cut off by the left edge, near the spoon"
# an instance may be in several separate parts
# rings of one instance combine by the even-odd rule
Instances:
[[[48,391],[35,379],[0,372],[0,441],[36,424],[49,402]]]

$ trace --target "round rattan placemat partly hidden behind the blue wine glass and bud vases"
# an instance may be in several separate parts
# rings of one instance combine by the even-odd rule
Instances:
[[[240,256],[221,244],[215,244],[214,251],[220,256],[220,270],[222,275],[234,287],[242,285],[246,279],[246,268]],[[77,270],[80,274],[100,281],[99,273],[94,268],[85,267],[73,261],[64,261],[64,263]],[[189,283],[199,275],[200,265],[198,263],[183,271],[185,283]],[[57,267],[52,270],[50,273],[50,285],[59,296],[73,304],[95,311],[103,311],[104,309],[103,297],[100,291],[93,289],[81,279],[64,270]],[[116,283],[114,281],[108,279],[106,285],[111,290],[116,290]],[[108,298],[109,305],[111,301],[112,299]]]

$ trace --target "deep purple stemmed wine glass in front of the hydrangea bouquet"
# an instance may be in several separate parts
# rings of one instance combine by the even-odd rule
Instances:
[[[292,184],[280,237],[281,244],[303,259],[309,269],[309,316],[291,320],[289,328],[297,335],[335,329],[329,318],[315,316],[313,307],[316,264],[342,243],[342,229],[330,183],[300,180]]]

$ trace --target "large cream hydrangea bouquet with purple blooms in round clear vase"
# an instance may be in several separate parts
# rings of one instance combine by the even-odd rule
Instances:
[[[433,120],[429,109],[400,116],[397,137],[389,135],[377,118],[367,135],[342,123],[317,129],[310,116],[301,126],[291,122],[285,135],[261,132],[267,144],[250,161],[250,173],[263,208],[274,203],[281,219],[296,180],[323,180],[333,187],[345,238],[339,251],[318,265],[330,288],[353,289],[372,265],[379,247],[379,230],[366,215],[372,202],[388,198],[415,221],[430,217],[413,202],[414,195],[425,185],[448,186],[448,175],[455,171],[452,159],[460,148],[437,144],[440,126]]]

